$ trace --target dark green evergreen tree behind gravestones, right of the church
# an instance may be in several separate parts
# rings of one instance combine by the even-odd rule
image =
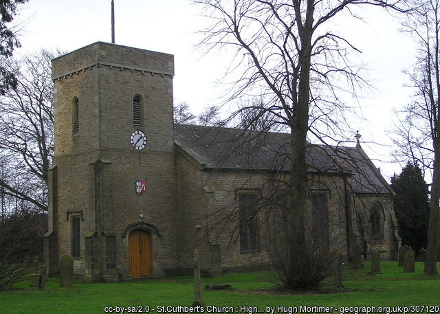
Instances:
[[[409,245],[416,251],[426,248],[428,236],[429,198],[421,169],[408,162],[400,175],[391,178],[396,193],[394,210],[399,222],[402,245]]]

